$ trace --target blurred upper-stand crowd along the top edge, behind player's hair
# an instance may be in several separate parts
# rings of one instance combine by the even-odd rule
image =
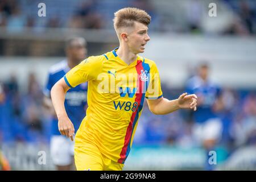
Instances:
[[[1,0],[0,1],[0,26],[10,32],[22,31],[26,27],[35,30],[46,28],[112,28],[113,13],[122,7],[138,7],[146,10],[152,16],[151,30],[154,31],[177,31],[177,32],[203,32],[201,19],[203,10],[201,1],[189,0],[189,6],[183,15],[185,19],[183,27],[173,28],[174,21],[164,15],[161,8],[156,8],[150,0],[75,0],[70,3],[64,1],[43,1],[46,4],[47,16],[40,18],[38,4],[40,1],[31,0]],[[179,1],[170,1],[169,6],[175,6]],[[229,10],[237,15],[231,26],[226,28],[223,34],[250,35],[255,34],[256,3],[253,0],[221,0]],[[208,9],[208,7],[206,7]],[[176,18],[177,19],[177,18]]]

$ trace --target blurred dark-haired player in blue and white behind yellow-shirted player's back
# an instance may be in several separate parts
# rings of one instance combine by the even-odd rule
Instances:
[[[60,80],[70,69],[79,64],[86,57],[86,41],[84,38],[71,38],[67,40],[66,54],[67,60],[53,65],[48,72],[48,80],[44,89],[44,105],[52,114],[51,125],[51,157],[53,164],[58,170],[71,170],[73,166],[74,142],[60,134],[58,121],[52,106],[50,91],[52,86]],[[65,110],[68,117],[73,122],[75,133],[79,129],[82,119],[85,117],[87,106],[87,82],[69,89],[65,97]]]

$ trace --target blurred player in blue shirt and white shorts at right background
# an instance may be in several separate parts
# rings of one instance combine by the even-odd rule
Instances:
[[[196,94],[197,111],[193,112],[192,133],[195,140],[207,151],[214,150],[217,142],[222,135],[222,122],[217,115],[217,111],[222,108],[221,89],[208,78],[209,66],[207,63],[200,64],[197,75],[187,81],[186,92],[188,94]],[[205,169],[212,170],[214,165],[205,163]]]

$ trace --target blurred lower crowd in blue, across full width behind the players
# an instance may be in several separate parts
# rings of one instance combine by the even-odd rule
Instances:
[[[174,99],[183,90],[168,89],[163,83],[164,97]],[[224,88],[224,109],[218,112],[224,126],[221,146],[227,150],[256,143],[256,92]],[[179,110],[168,115],[154,115],[144,103],[134,144],[170,144],[193,147],[193,112]],[[48,143],[51,136],[50,114],[43,107],[42,86],[34,73],[28,76],[27,91],[20,92],[17,78],[0,86],[0,143]]]

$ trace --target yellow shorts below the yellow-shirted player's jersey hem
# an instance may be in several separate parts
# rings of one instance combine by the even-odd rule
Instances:
[[[75,146],[75,164],[77,171],[121,171],[124,165],[106,158],[91,143]]]

